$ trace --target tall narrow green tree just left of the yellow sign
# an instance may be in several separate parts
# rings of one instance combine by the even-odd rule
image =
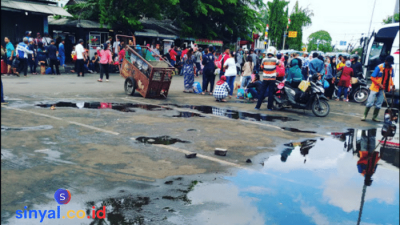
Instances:
[[[268,20],[269,20],[269,31],[268,38],[271,39],[271,44],[279,48],[282,46],[283,33],[286,30],[288,24],[287,9],[285,7],[289,4],[285,0],[274,0],[268,2]]]

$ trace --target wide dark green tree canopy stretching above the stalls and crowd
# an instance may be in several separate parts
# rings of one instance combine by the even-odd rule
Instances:
[[[67,6],[74,19],[89,19],[109,28],[141,29],[139,20],[171,19],[180,36],[235,41],[251,40],[252,31],[264,31],[262,0],[87,0]]]

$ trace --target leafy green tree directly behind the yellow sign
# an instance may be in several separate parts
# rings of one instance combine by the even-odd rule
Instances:
[[[303,27],[311,25],[311,17],[314,16],[313,12],[308,8],[299,7],[299,2],[293,7],[292,14],[290,14],[289,31],[297,31],[296,38],[288,38],[287,45],[289,49],[301,51],[303,39]]]

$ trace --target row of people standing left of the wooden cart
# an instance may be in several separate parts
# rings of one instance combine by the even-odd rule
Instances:
[[[80,39],[71,49],[71,58],[68,61],[73,63],[72,68],[65,64],[66,40],[61,37],[52,39],[48,33],[45,33],[44,37],[37,33],[36,38],[33,38],[31,32],[27,31],[22,41],[17,43],[12,43],[8,37],[5,37],[5,45],[1,45],[1,52],[2,59],[7,65],[6,73],[9,76],[23,74],[26,77],[28,69],[32,75],[37,75],[37,68],[40,68],[42,75],[60,75],[62,71],[65,73],[76,72],[78,77],[83,77],[85,73],[100,72],[98,81],[102,81],[103,73],[106,74],[106,81],[108,81],[109,72],[118,72],[119,64],[125,57],[124,43],[112,40],[113,38],[110,36],[102,45],[104,51],[101,54],[100,51],[97,51],[90,58],[89,49],[84,47],[84,42]],[[108,58],[108,50],[110,58]],[[105,55],[102,56],[104,53]],[[106,67],[104,64],[108,66]]]

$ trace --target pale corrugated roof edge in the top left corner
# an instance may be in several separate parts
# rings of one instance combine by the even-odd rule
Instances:
[[[1,9],[14,9],[14,10],[21,10],[21,11],[28,11],[28,12],[38,12],[48,15],[60,15],[60,16],[68,16],[72,17],[65,9],[45,5],[45,4],[38,4],[34,2],[21,2],[21,1],[13,1],[13,0],[1,0]]]

